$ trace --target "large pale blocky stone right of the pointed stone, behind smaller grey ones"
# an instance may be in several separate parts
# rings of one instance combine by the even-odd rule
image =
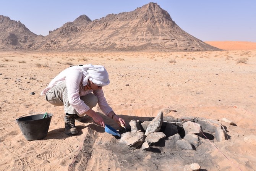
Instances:
[[[200,124],[188,121],[183,124],[183,129],[185,131],[185,134],[196,134],[200,137],[203,135],[203,129]]]

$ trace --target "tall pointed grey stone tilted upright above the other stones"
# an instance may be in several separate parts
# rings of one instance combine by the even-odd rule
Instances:
[[[154,118],[147,126],[145,135],[148,136],[150,133],[159,132],[163,123],[163,112],[159,111],[156,118]]]

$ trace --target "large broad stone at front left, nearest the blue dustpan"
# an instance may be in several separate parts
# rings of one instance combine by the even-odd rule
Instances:
[[[145,138],[145,134],[141,131],[125,132],[124,134],[122,134],[122,137],[118,143],[123,143],[128,145],[129,147],[138,148],[144,143]]]

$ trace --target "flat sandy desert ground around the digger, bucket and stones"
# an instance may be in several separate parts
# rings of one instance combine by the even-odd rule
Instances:
[[[0,170],[182,170],[191,163],[199,163],[204,171],[256,170],[256,142],[247,140],[256,132],[256,50],[1,52],[0,61]],[[66,136],[63,107],[50,105],[39,94],[70,64],[85,63],[105,66],[110,76],[110,85],[104,87],[105,97],[127,124],[131,119],[154,117],[161,108],[171,107],[177,112],[168,115],[177,118],[232,120],[237,126],[222,123],[231,139],[214,144],[206,141],[202,146],[206,148],[196,151],[205,155],[190,160],[190,153],[184,150],[167,158],[167,153],[171,154],[168,149],[152,153],[118,148],[118,139],[90,118],[76,122],[78,135]],[[15,119],[34,112],[53,116],[47,137],[28,141]],[[104,119],[119,129],[113,120]]]

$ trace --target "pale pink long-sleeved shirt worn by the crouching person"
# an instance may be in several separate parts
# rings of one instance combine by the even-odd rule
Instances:
[[[102,89],[97,90],[86,90],[84,91],[84,86],[82,84],[84,75],[79,67],[73,66],[63,70],[55,78],[52,79],[49,86],[42,90],[41,95],[45,95],[46,92],[53,86],[59,84],[60,82],[66,81],[66,88],[68,90],[68,101],[73,108],[79,113],[79,116],[83,116],[86,111],[90,108],[87,106],[81,96],[93,92],[98,98],[98,104],[100,109],[105,115],[108,115],[112,108],[108,105],[106,98],[104,97],[104,92]]]

